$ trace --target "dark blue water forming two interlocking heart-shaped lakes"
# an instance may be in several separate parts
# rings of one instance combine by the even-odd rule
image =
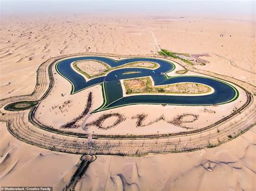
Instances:
[[[95,79],[86,81],[84,77],[71,68],[71,63],[78,60],[96,60],[107,63],[110,67],[117,67],[125,65],[126,63],[136,62],[136,61],[150,61],[155,62],[160,65],[159,68],[154,70],[147,68],[120,68],[112,70],[106,76],[100,76]],[[211,105],[220,104],[224,102],[231,101],[235,95],[236,91],[234,88],[228,84],[200,76],[178,76],[170,77],[167,79],[164,73],[167,73],[174,69],[174,65],[170,62],[153,59],[153,58],[131,58],[124,59],[120,61],[114,61],[109,58],[104,58],[100,56],[84,56],[79,58],[72,58],[60,61],[57,65],[59,73],[69,79],[74,87],[72,94],[77,91],[83,90],[85,88],[94,86],[95,84],[104,83],[105,89],[105,106],[101,108],[108,109],[112,107],[120,107],[126,104],[177,104],[177,105]],[[138,72],[133,74],[124,74],[125,72]],[[214,93],[210,95],[201,96],[173,96],[170,94],[166,95],[133,95],[128,97],[123,97],[122,87],[120,81],[122,79],[131,79],[136,77],[151,76],[154,84],[166,85],[178,82],[196,82],[203,83],[214,89]]]

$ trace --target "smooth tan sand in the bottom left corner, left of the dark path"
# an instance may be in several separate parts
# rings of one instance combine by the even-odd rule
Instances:
[[[3,122],[0,129],[0,186],[58,183],[55,189],[60,190],[76,171],[78,155],[51,152],[22,143],[10,135]]]

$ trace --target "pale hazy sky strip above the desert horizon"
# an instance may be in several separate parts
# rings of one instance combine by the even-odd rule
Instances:
[[[1,13],[180,13],[189,14],[255,14],[255,1],[190,0],[0,0]]]

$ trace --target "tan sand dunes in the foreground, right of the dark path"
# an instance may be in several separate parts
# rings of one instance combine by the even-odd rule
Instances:
[[[143,158],[98,156],[77,189],[254,190],[254,142],[255,128],[225,145],[201,151]]]

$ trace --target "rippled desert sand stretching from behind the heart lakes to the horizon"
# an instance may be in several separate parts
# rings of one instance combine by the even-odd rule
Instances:
[[[252,33],[254,23],[199,18],[176,18],[169,21],[117,18],[104,19],[103,22],[100,18],[83,19],[75,16],[70,16],[68,21],[65,21],[58,16],[37,16],[33,19],[6,16],[2,19],[3,27],[0,31],[3,37],[2,50],[5,51],[0,56],[3,66],[1,74],[6,67],[9,68],[9,64],[6,63],[17,62],[17,65],[38,67],[45,59],[62,54],[150,54],[150,51],[158,51],[159,46],[180,53],[218,54],[233,60],[235,65],[241,68],[255,72],[255,39]],[[240,27],[237,27],[237,24]],[[224,36],[220,37],[220,34]],[[212,68],[219,68],[215,66],[217,63],[220,62],[210,58]],[[16,65],[12,64],[12,67],[16,68]],[[231,67],[229,71],[233,74],[239,73],[238,78],[241,80],[254,82],[251,73],[235,67]],[[30,81],[35,76],[31,79],[28,76],[23,77]],[[10,80],[17,81],[14,78]],[[18,81],[17,86],[27,87]],[[29,86],[22,93],[28,94],[32,87]],[[3,94],[1,97],[6,97]],[[17,93],[12,92],[12,95]]]

